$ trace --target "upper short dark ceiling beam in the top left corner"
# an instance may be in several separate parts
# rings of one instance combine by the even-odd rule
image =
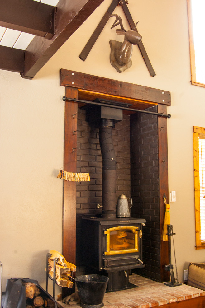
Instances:
[[[50,39],[55,7],[33,0],[1,1],[0,26]]]

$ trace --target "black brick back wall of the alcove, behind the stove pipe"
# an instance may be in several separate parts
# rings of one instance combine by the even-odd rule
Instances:
[[[77,182],[77,230],[76,230],[76,265],[78,274],[83,274],[80,266],[81,217],[101,214],[97,208],[102,204],[102,156],[99,145],[99,128],[86,121],[86,110],[78,109],[77,132],[77,172],[89,172],[90,182]],[[130,198],[130,117],[123,115],[123,121],[115,124],[112,139],[117,159],[117,197],[125,194]]]

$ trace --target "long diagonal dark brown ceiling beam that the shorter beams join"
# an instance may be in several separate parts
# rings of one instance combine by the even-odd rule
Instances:
[[[32,79],[103,1],[60,0],[56,6],[54,36],[51,40],[34,37],[25,51],[24,72],[21,76]],[[69,50],[65,57],[69,57]]]

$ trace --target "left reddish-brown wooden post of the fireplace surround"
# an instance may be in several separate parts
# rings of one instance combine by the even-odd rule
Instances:
[[[78,90],[66,87],[65,96],[78,97]],[[77,119],[78,103],[65,102],[65,130],[64,130],[64,170],[76,172],[77,170]],[[63,255],[68,262],[75,264],[76,245],[76,182],[64,180],[63,194]],[[69,293],[64,288],[62,293]],[[72,291],[71,291],[72,290]],[[70,289],[72,293],[74,290]]]

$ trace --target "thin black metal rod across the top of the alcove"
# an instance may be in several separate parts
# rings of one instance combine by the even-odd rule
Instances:
[[[171,118],[171,114],[163,114],[163,113],[152,112],[152,111],[147,111],[147,110],[133,109],[133,108],[127,108],[127,107],[122,107],[122,106],[117,106],[117,105],[109,105],[109,104],[104,104],[104,103],[92,102],[92,101],[89,101],[89,100],[76,100],[74,98],[69,98],[69,97],[63,96],[63,101],[66,101],[66,100],[72,100],[74,102],[83,103],[83,104],[98,105],[98,106],[105,106],[105,107],[128,110],[128,111],[154,114],[154,115],[159,115],[160,117],[164,117],[164,118],[168,118],[168,119]]]

